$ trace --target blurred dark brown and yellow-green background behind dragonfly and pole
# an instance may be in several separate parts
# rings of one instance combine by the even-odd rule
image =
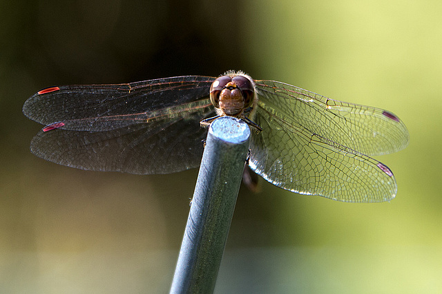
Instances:
[[[81,171],[29,151],[43,87],[244,70],[397,114],[390,203],[242,188],[217,293],[442,291],[441,1],[1,1],[0,292],[165,293],[198,170]]]

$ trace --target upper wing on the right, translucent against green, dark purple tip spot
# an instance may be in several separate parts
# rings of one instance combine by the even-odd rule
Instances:
[[[390,154],[408,144],[404,123],[387,110],[336,101],[276,81],[256,81],[256,86],[260,101],[285,115],[287,123],[298,123],[362,154]]]

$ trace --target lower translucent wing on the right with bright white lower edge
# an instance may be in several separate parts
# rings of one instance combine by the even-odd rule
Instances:
[[[345,202],[382,202],[396,196],[396,180],[381,162],[311,134],[259,109],[249,165],[274,185]],[[267,132],[271,129],[271,132]]]

